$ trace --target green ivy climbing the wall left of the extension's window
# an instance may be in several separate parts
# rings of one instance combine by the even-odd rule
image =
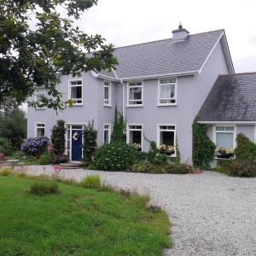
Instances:
[[[215,144],[207,137],[209,125],[201,125],[196,121],[192,125],[193,146],[192,158],[196,167],[201,169],[210,168],[210,161],[215,154]]]

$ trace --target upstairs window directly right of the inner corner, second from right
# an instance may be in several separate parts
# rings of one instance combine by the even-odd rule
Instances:
[[[128,84],[128,107],[143,106],[143,82],[132,82]]]

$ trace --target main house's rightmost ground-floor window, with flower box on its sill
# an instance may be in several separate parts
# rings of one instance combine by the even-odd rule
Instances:
[[[158,125],[158,146],[161,154],[176,155],[176,126]]]

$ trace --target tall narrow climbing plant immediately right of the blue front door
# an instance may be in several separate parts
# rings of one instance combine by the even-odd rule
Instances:
[[[96,152],[97,144],[97,131],[94,129],[94,123],[90,125],[86,125],[83,131],[84,136],[84,144],[83,144],[83,154],[84,154],[84,162],[86,165],[90,165],[92,163],[92,158]]]

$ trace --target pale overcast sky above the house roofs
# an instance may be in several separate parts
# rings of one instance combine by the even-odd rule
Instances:
[[[171,38],[179,21],[190,33],[224,28],[237,72],[256,71],[255,0],[99,0],[79,20],[115,46]]]

